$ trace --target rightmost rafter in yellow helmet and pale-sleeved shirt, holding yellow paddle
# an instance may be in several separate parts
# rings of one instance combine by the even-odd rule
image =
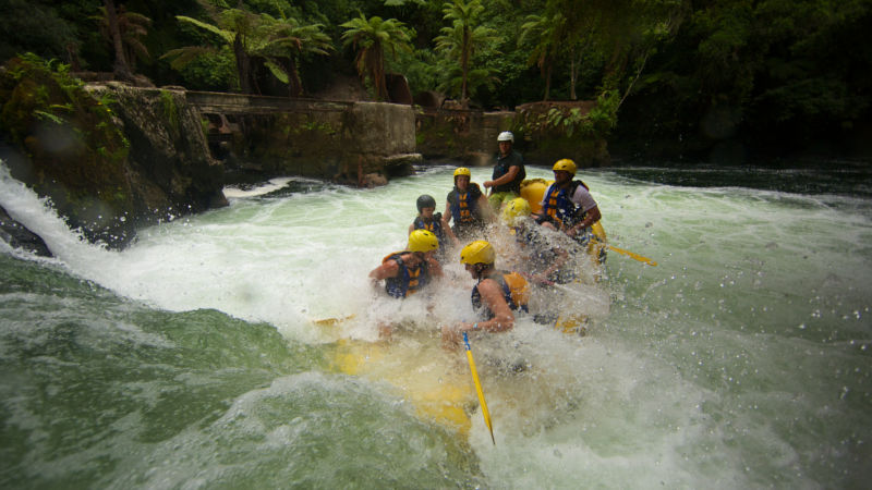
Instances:
[[[576,162],[568,158],[554,164],[554,184],[542,197],[542,211],[534,215],[543,226],[560,230],[582,245],[592,237],[591,225],[602,218],[588,185],[576,176]]]

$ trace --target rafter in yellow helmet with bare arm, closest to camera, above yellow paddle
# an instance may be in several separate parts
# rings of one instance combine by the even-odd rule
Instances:
[[[472,308],[479,321],[458,323],[443,328],[443,344],[458,346],[463,332],[504,332],[514,327],[514,313],[526,311],[530,287],[526,280],[516,272],[502,272],[494,266],[496,252],[484,240],[477,240],[460,252],[463,264],[472,279],[479,282],[472,289]]]

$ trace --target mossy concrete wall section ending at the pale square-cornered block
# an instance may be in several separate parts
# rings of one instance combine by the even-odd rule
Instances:
[[[303,175],[355,185],[422,161],[410,106],[189,93],[229,181]]]

